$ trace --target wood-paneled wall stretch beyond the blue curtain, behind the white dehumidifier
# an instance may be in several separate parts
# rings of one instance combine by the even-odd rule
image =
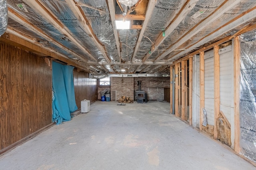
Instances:
[[[74,89],[78,108],[81,108],[81,101],[84,99],[90,102],[97,100],[97,86],[97,79],[89,78],[89,73],[74,69]]]

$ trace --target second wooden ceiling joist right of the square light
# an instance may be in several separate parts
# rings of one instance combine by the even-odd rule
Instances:
[[[142,63],[144,63],[152,55],[152,53],[154,53],[158,49],[161,43],[164,42],[166,37],[168,37],[172,33],[172,31],[180,24],[180,22],[187,16],[188,12],[190,12],[190,10],[194,8],[198,1],[199,0],[189,0],[189,2],[187,2],[183,6],[179,14],[176,15],[172,23],[166,28],[165,36],[163,37],[162,34],[159,35],[159,37],[155,41],[155,44],[151,47],[151,52],[147,53],[146,56],[142,59]]]

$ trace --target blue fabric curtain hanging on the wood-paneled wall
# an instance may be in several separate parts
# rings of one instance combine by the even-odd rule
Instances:
[[[60,124],[71,120],[76,111],[73,66],[52,62],[52,121]]]

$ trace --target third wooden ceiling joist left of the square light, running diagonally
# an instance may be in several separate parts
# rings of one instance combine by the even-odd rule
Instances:
[[[51,23],[58,31],[60,31],[62,34],[66,35],[70,41],[72,41],[75,45],[77,45],[84,53],[86,53],[92,60],[97,61],[90,52],[85,49],[81,43],[79,43],[75,38],[74,35],[70,34],[70,31],[67,27],[60,24],[61,22],[56,19],[56,16],[45,6],[43,6],[43,3],[41,0],[23,0],[26,4],[28,4],[31,8],[33,8],[40,16],[42,16],[46,21]],[[57,21],[56,21],[57,20]],[[82,58],[80,58],[82,59]],[[98,61],[97,61],[98,62]]]

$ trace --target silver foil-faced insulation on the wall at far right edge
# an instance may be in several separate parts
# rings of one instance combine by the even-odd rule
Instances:
[[[240,36],[240,151],[256,162],[256,30]]]

